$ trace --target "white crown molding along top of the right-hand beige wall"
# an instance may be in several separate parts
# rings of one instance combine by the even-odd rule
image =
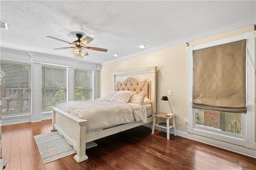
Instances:
[[[153,52],[153,51],[158,51],[158,50],[161,50],[161,49],[165,49],[165,48],[173,47],[173,46],[176,46],[176,45],[180,45],[180,44],[183,44],[183,43],[186,43],[186,42],[192,42],[192,41],[200,40],[200,39],[203,39],[203,38],[208,38],[210,36],[216,36],[218,34],[223,34],[223,33],[226,33],[226,32],[242,29],[242,28],[245,28],[245,27],[248,27],[248,26],[252,26],[254,24],[256,24],[256,18],[251,19],[251,20],[247,20],[247,21],[244,21],[244,22],[240,22],[240,23],[237,23],[237,24],[233,24],[233,25],[230,25],[230,26],[226,26],[226,27],[223,27],[223,28],[220,28],[220,29],[217,29],[217,30],[213,30],[213,31],[210,31],[210,32],[205,32],[205,33],[202,33],[202,34],[198,34],[196,36],[192,36],[192,37],[188,37],[188,38],[185,38],[185,39],[182,39],[182,40],[178,40],[176,42],[166,43],[164,45],[160,45],[160,46],[157,46],[157,47],[146,49],[146,50],[140,51],[138,53],[133,53],[133,54],[130,54],[130,55],[126,55],[124,57],[119,57],[117,59],[107,61],[107,62],[104,62],[104,63],[100,63],[100,64],[101,65],[107,65],[107,64],[115,63],[115,62],[126,60],[126,59],[129,59],[129,58],[137,57],[138,55],[144,55],[146,53],[150,53],[150,52]]]

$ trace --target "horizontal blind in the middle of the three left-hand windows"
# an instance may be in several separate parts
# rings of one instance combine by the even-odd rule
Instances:
[[[52,106],[66,102],[66,67],[42,65],[41,67],[41,111],[50,111]]]

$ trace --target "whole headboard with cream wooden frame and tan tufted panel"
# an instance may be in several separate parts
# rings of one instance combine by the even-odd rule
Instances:
[[[154,66],[112,74],[114,91],[144,91],[146,98],[152,101],[152,113],[156,113],[156,69]]]

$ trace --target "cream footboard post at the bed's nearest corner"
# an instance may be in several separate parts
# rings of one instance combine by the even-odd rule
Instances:
[[[74,159],[78,163],[88,159],[88,156],[85,154],[86,124],[87,122],[79,123],[80,128],[78,129],[78,132],[77,132],[77,136],[80,136],[80,138],[77,138],[76,155],[74,156]]]

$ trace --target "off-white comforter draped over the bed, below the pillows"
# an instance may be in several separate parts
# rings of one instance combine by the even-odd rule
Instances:
[[[58,108],[88,121],[87,132],[114,127],[125,123],[145,122],[146,108],[135,103],[112,103],[108,101],[69,101]]]

